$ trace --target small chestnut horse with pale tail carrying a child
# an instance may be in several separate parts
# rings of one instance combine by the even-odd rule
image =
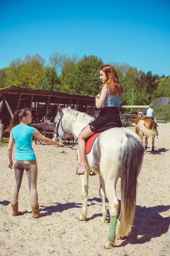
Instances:
[[[142,117],[137,117],[136,119],[136,134],[139,135],[140,139],[143,142],[144,138],[144,150],[147,148],[147,140],[148,137],[152,139],[152,151],[154,151],[154,140],[156,136],[156,125],[155,123],[149,119],[149,118],[142,118]]]

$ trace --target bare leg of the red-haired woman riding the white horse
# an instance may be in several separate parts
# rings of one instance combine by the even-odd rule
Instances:
[[[79,159],[80,167],[85,166],[85,139],[93,135],[94,132],[91,131],[90,125],[86,126],[80,133],[78,137],[79,145]]]

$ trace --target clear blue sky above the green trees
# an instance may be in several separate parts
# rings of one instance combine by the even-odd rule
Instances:
[[[170,1],[0,1],[0,68],[39,53],[97,55],[170,75]]]

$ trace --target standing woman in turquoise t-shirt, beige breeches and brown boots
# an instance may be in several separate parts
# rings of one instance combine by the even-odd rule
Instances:
[[[31,207],[33,211],[33,218],[40,218],[43,216],[39,212],[38,195],[37,195],[37,161],[32,148],[31,142],[33,135],[38,140],[43,141],[51,145],[64,146],[62,143],[55,142],[54,140],[44,137],[37,131],[37,129],[28,126],[31,123],[33,117],[28,108],[23,108],[20,111],[14,112],[14,117],[6,129],[10,132],[9,143],[8,143],[8,167],[12,169],[14,165],[14,182],[11,192],[11,206],[12,215],[17,216],[22,212],[18,211],[18,194],[23,178],[24,169],[26,170],[28,177],[28,186],[31,198]],[[16,143],[16,151],[14,156],[14,164],[12,161],[12,150]]]

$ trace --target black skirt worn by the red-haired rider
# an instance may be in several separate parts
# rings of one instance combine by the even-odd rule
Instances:
[[[114,123],[115,127],[122,127],[122,122],[119,116],[119,108],[105,107],[99,113],[96,119],[89,123],[91,131],[97,132],[99,128],[109,123]]]

